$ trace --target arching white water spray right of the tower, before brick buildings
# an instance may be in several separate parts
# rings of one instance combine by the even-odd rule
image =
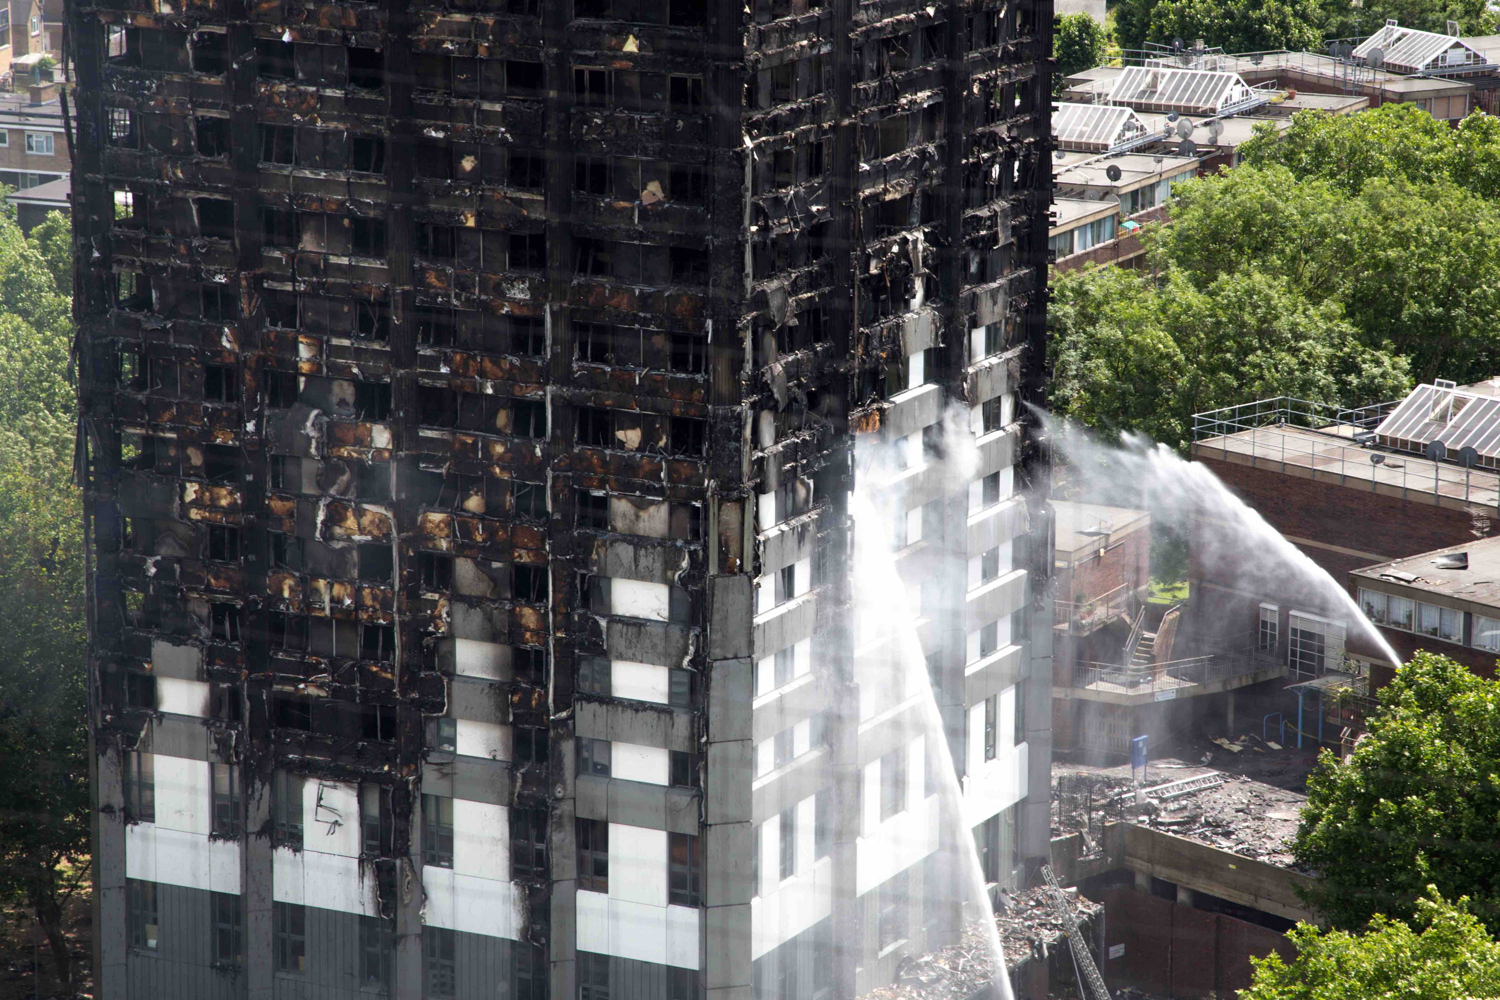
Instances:
[[[1401,657],[1365,616],[1348,589],[1272,528],[1200,462],[1188,462],[1144,435],[1122,433],[1107,444],[1068,420],[1035,411],[1054,453],[1068,463],[1077,496],[1098,504],[1134,507],[1186,534],[1192,525],[1192,558],[1206,576],[1238,580],[1251,594],[1294,595],[1298,586],[1332,598],[1394,664]]]

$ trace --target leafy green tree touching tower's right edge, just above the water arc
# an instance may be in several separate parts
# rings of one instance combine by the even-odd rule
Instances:
[[[1203,286],[1124,268],[1052,286],[1052,406],[1095,430],[1185,448],[1192,414],[1266,396],[1362,405],[1401,394],[1406,364],[1364,346],[1334,301],[1260,270]]]

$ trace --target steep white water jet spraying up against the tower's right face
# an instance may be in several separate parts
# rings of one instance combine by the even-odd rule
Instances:
[[[942,421],[942,457],[928,456],[924,466],[928,474],[936,469],[944,480],[945,492],[963,490],[974,478],[978,462],[974,435],[968,426],[969,412],[952,408]],[[939,823],[956,826],[946,843],[958,855],[952,859],[962,868],[968,889],[963,898],[963,927],[976,931],[988,949],[994,997],[1014,1000],[1000,945],[999,928],[990,904],[988,886],[980,861],[980,850],[969,829],[963,810],[963,789],[952,760],[944,729],[942,712],[927,673],[927,657],[918,636],[918,619],[924,612],[916,588],[908,592],[891,546],[892,526],[904,508],[897,505],[903,490],[894,483],[904,472],[903,463],[891,444],[866,444],[856,450],[855,490],[850,498],[854,516],[854,604],[855,604],[855,676],[861,685],[884,688],[888,700],[915,700],[920,714],[920,732],[924,753],[934,754],[934,777],[939,802]],[[954,598],[962,606],[963,595]],[[882,678],[882,672],[885,676]],[[864,702],[861,694],[861,702]],[[864,718],[861,711],[861,718]],[[915,733],[914,733],[915,735]],[[942,831],[939,844],[944,844]],[[942,847],[939,847],[940,850]],[[958,873],[954,873],[958,874]],[[924,892],[933,888],[924,886]]]

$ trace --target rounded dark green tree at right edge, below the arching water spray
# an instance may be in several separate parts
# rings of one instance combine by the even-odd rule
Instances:
[[[1468,897],[1494,931],[1497,817],[1500,684],[1418,652],[1380,691],[1348,762],[1324,751],[1292,849],[1318,874],[1308,901],[1334,927],[1358,930],[1377,913],[1410,919],[1436,886]]]

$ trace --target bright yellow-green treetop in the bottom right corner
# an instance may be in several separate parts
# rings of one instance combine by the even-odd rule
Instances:
[[[1364,934],[1299,924],[1287,937],[1298,957],[1251,958],[1239,1000],[1470,1000],[1500,996],[1500,945],[1466,907],[1431,892],[1416,901],[1416,927],[1377,916]]]

